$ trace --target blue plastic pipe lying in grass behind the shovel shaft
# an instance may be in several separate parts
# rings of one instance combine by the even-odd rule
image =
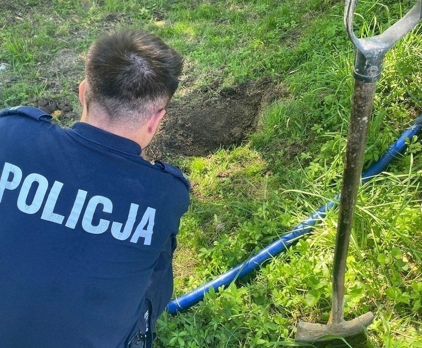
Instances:
[[[394,142],[393,145],[381,156],[381,158],[373,163],[366,171],[362,173],[362,183],[366,183],[372,177],[383,172],[389,163],[391,163],[398,155],[402,154],[406,148],[406,140],[418,135],[422,129],[422,114],[413,122],[412,126],[405,130],[402,135]],[[284,234],[279,239],[273,241],[265,248],[249,257],[247,260],[214,278],[208,283],[172,300],[167,305],[167,311],[170,315],[185,310],[204,298],[206,292],[213,288],[218,292],[220,286],[228,286],[238,278],[242,278],[251,273],[268,259],[271,259],[279,253],[286,251],[289,246],[297,242],[299,238],[312,231],[317,222],[321,221],[328,211],[337,206],[339,194],[330,202],[318,209],[314,214],[306,220],[298,224],[293,230]]]

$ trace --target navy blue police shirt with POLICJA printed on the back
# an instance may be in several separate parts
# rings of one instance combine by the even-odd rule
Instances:
[[[0,113],[0,347],[126,348],[154,329],[188,182],[126,138]]]

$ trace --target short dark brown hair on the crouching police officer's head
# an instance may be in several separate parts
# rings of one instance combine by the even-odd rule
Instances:
[[[183,59],[157,36],[126,29],[99,38],[85,62],[86,107],[110,121],[139,125],[164,109],[177,89]]]

